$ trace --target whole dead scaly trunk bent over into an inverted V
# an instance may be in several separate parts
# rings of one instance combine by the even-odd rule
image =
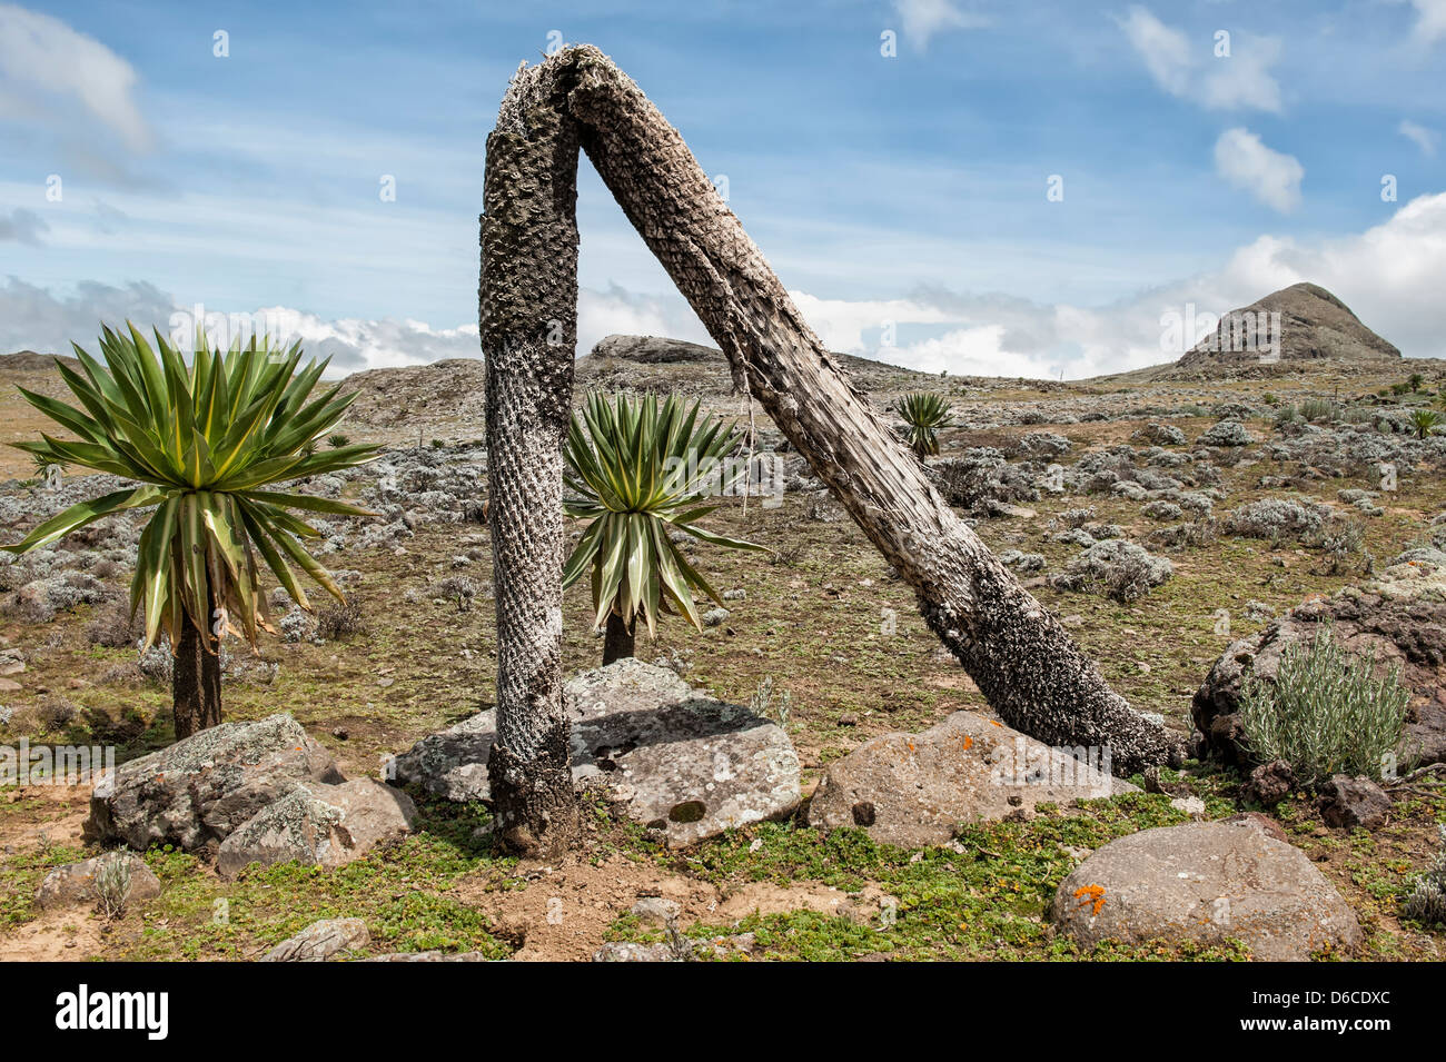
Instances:
[[[499,446],[526,455],[523,459],[506,449],[490,451],[493,498],[521,497],[516,480],[528,480],[532,485],[526,497],[538,507],[526,519],[552,526],[551,511],[544,513],[541,506],[555,497],[560,458],[555,451],[542,451],[551,442],[560,445],[565,410],[544,413],[538,402],[565,403],[571,367],[562,367],[558,351],[548,348],[544,354],[536,344],[548,318],[565,322],[568,344],[573,335],[576,228],[568,225],[574,185],[571,163],[561,156],[574,142],[587,152],[629,221],[727,354],[735,380],[762,403],[869,540],[914,587],[924,618],[999,715],[1047,744],[1106,747],[1116,772],[1167,760],[1176,748],[1170,733],[1131,709],[1105,683],[1060,623],[944,503],[918,461],[824,351],[678,131],[590,45],[567,48],[538,66],[519,69],[497,131],[487,142],[482,283],[487,439],[489,446],[496,439]],[[562,170],[565,194],[554,184]],[[508,182],[508,188],[499,188],[499,182]],[[531,221],[515,221],[515,215]],[[506,238],[489,238],[495,228],[505,230]],[[552,233],[562,228],[571,243],[551,243]],[[565,283],[560,256],[567,260]],[[519,280],[534,288],[513,308],[499,286]],[[571,345],[564,350],[571,357]],[[534,373],[541,377],[515,379]],[[548,380],[565,380],[568,387]],[[502,397],[490,393],[493,386],[503,387]],[[529,419],[495,423],[493,410],[509,416],[505,397],[522,393],[532,396],[525,403]],[[536,484],[538,478],[548,483]],[[505,584],[522,579],[532,588],[529,592],[551,605],[558,600],[554,584],[562,551],[560,530],[555,538],[549,530],[545,540],[534,538],[529,549],[503,542],[509,524],[496,511],[503,640],[497,709],[499,743],[506,744],[505,714],[531,711],[558,718],[561,708],[554,711],[551,702],[529,705],[516,691],[503,691],[500,673],[510,666],[503,660],[532,653],[536,666],[526,670],[539,675],[545,666],[555,666],[560,640],[560,634],[548,634],[539,642],[536,631],[500,626],[503,594],[509,601],[518,598],[516,590],[505,590]],[[519,616],[538,618],[545,611],[535,603],[518,601],[513,607]],[[557,686],[558,676],[552,675],[538,689],[555,696]]]

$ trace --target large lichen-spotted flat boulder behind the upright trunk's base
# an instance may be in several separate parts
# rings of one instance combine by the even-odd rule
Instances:
[[[798,806],[798,756],[784,730],[696,691],[674,672],[617,660],[562,688],[573,777],[629,818],[691,844]],[[450,800],[487,800],[496,715],[480,712],[396,759],[395,782]]]

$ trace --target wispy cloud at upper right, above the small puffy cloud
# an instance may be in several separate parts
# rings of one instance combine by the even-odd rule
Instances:
[[[1209,110],[1255,108],[1278,114],[1280,84],[1270,68],[1280,59],[1274,38],[1232,36],[1231,55],[1215,55],[1213,33],[1192,40],[1147,7],[1131,7],[1119,27],[1145,61],[1150,77],[1170,95]]]

